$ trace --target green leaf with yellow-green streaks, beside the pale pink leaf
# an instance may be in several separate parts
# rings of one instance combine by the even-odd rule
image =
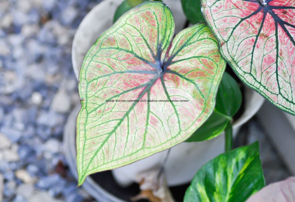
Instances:
[[[259,145],[219,155],[198,170],[184,202],[244,202],[265,186]]]

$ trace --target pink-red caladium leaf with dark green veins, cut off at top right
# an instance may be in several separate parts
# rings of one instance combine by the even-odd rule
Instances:
[[[201,0],[223,58],[240,79],[295,114],[295,1]]]

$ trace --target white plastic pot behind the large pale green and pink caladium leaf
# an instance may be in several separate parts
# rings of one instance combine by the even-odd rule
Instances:
[[[172,10],[176,21],[176,32],[185,24],[180,0],[163,0]],[[86,15],[78,27],[73,41],[72,61],[75,74],[78,74],[87,51],[99,35],[112,26],[112,19],[117,6],[122,0],[104,0]],[[233,123],[236,135],[242,124],[247,122],[261,107],[264,99],[250,88],[246,88],[245,111]],[[75,128],[73,128],[75,130]],[[181,143],[171,149],[165,172],[168,185],[179,185],[191,181],[196,171],[207,161],[224,152],[224,135],[209,141]],[[133,164],[113,170],[113,175],[120,185],[137,181],[137,174],[151,168],[160,167],[167,151],[159,152]]]

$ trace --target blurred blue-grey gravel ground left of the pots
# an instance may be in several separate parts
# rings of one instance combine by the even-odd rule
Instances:
[[[62,133],[79,100],[71,46],[100,0],[0,0],[0,201],[92,201]]]

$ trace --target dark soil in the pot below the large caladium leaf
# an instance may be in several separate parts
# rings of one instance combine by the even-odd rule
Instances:
[[[97,184],[101,186],[101,188],[124,201],[131,202],[130,198],[140,193],[139,185],[137,183],[133,183],[126,188],[119,186],[114,180],[110,170],[98,172],[90,176]],[[169,188],[176,202],[183,202],[185,191],[189,185],[190,183],[187,183]],[[148,200],[142,199],[138,200],[137,202],[148,202]]]

